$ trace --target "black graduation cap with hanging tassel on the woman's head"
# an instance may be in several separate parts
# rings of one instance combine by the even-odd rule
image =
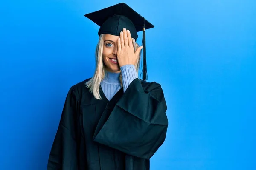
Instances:
[[[126,28],[131,32],[131,37],[137,40],[137,32],[143,31],[143,80],[146,80],[147,64],[145,30],[154,28],[154,26],[126,3],[119,3],[99,11],[85,14],[84,16],[100,26],[98,32],[99,35],[111,34],[120,36],[120,32],[123,28]]]

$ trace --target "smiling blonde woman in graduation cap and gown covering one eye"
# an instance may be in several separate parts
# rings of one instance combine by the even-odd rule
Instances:
[[[96,70],[67,94],[47,170],[149,170],[168,119],[161,85],[144,80],[145,68],[137,76],[138,15],[125,3],[85,15],[101,26]]]

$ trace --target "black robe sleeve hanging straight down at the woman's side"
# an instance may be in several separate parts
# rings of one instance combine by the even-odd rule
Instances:
[[[71,87],[49,154],[47,170],[78,170],[76,111],[78,102]]]

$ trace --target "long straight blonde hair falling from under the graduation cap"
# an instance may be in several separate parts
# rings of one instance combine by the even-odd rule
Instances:
[[[104,47],[105,35],[106,34],[101,34],[99,36],[99,42],[96,46],[96,51],[95,51],[96,69],[95,69],[94,75],[89,81],[87,81],[85,83],[87,88],[89,88],[89,91],[93,94],[93,96],[99,100],[103,99],[103,98],[101,98],[101,96],[99,94],[100,82],[104,79],[105,74],[106,74],[106,69],[105,69],[106,65],[103,62],[103,47]],[[134,45],[134,52],[135,52],[137,50],[137,48],[139,47],[139,45],[135,42],[134,38],[132,38],[132,42]],[[139,57],[135,64],[135,68],[136,68],[137,75],[138,75],[138,71],[140,69],[140,54],[139,54]],[[123,86],[122,85],[122,73],[120,73],[119,80],[120,80],[121,88],[122,88],[122,86]]]

